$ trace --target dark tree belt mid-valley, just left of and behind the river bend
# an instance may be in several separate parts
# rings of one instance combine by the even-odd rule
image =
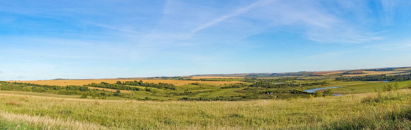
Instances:
[[[287,88],[287,87],[300,87],[300,86],[314,86],[314,85],[325,85],[328,84],[328,82],[313,82],[313,83],[278,83],[274,84],[272,82],[268,82],[265,80],[260,80],[257,82],[254,82],[250,86],[256,86],[256,87],[263,87],[263,88]]]

